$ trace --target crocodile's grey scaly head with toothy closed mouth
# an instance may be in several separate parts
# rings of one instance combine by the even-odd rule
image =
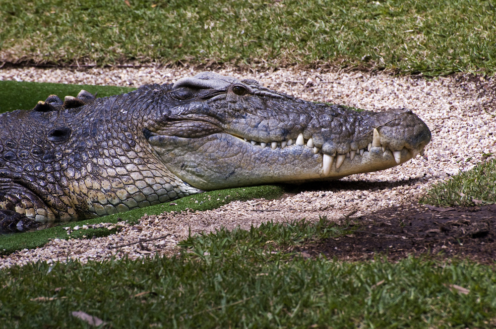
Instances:
[[[334,180],[423,153],[427,125],[407,109],[357,112],[203,72],[163,94],[145,137],[196,188]]]

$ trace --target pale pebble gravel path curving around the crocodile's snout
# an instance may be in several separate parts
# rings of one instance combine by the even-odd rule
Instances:
[[[170,254],[177,251],[176,243],[187,237],[189,228],[195,234],[212,232],[222,226],[248,229],[250,225],[270,220],[287,222],[306,218],[313,221],[319,216],[339,222],[350,216],[415,202],[432,184],[471,169],[483,159],[483,153],[496,152],[496,108],[491,105],[494,104],[492,96],[485,93],[494,91],[494,79],[440,77],[427,80],[296,68],[261,73],[228,68],[216,72],[255,79],[265,87],[312,101],[341,103],[367,110],[408,107],[427,123],[433,140],[426,147],[424,157],[418,156],[381,172],[344,178],[341,182],[352,182],[346,188],[343,183],[338,184],[339,188],[333,183],[306,185],[297,194],[279,200],[238,201],[211,211],[145,216],[139,225],[132,227],[120,223],[123,229],[116,235],[83,240],[55,239],[42,248],[25,249],[1,257],[0,269],[37,260],[63,262],[70,258],[86,262],[88,259],[108,259],[112,255],[117,258],[127,255],[134,259],[156,252]],[[192,69],[171,68],[84,71],[20,68],[0,69],[0,80],[137,87],[172,83],[196,73]],[[249,211],[253,209],[278,211]],[[167,234],[165,238],[112,248]]]

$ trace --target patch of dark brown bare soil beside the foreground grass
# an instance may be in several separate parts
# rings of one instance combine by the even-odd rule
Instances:
[[[495,223],[496,204],[449,208],[406,204],[354,218],[348,235],[326,239],[301,251],[308,256],[324,254],[342,260],[386,256],[395,261],[430,254],[494,265]]]

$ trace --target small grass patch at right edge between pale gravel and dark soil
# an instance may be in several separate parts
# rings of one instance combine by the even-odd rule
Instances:
[[[421,199],[438,206],[475,206],[496,203],[496,159],[435,184]]]

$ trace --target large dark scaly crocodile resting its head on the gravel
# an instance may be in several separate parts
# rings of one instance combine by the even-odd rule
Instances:
[[[95,99],[51,95],[0,115],[0,228],[23,231],[202,190],[333,180],[431,141],[409,110],[355,112],[203,72]]]

